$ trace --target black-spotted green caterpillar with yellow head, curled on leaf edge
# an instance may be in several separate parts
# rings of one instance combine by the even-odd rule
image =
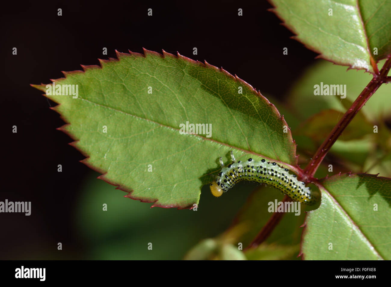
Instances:
[[[216,180],[210,184],[210,191],[214,196],[219,197],[237,182],[248,180],[271,184],[292,200],[301,203],[313,205],[317,202],[317,196],[312,193],[310,187],[305,186],[305,182],[298,181],[296,175],[289,174],[289,169],[278,166],[276,162],[267,162],[265,159],[256,161],[251,158],[245,162],[235,162],[232,151],[231,158],[232,164],[226,168],[220,158],[223,168]]]

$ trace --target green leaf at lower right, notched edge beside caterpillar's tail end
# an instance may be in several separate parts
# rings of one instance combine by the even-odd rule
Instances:
[[[306,217],[304,258],[389,260],[391,179],[341,174],[321,183],[325,188],[321,206]]]

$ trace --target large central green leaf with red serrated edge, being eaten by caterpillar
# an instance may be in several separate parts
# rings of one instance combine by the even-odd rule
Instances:
[[[296,164],[287,123],[249,84],[206,62],[144,52],[117,52],[119,61],[100,60],[102,68],[83,66],[54,80],[78,85],[78,98],[47,96],[69,123],[61,130],[88,156],[83,163],[104,173],[99,178],[152,206],[188,208],[220,169],[219,157],[230,161],[230,150],[237,159]],[[187,122],[211,125],[211,137],[181,134]]]

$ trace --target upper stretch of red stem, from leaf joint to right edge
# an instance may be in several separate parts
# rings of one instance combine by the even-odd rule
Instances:
[[[333,128],[325,141],[319,146],[315,155],[312,157],[307,167],[303,170],[303,175],[301,179],[304,182],[314,181],[314,174],[321,164],[323,158],[326,156],[327,152],[330,150],[332,145],[337,141],[338,137],[342,134],[343,130],[348,126],[352,121],[357,112],[360,111],[362,106],[369,100],[369,98],[375,93],[375,91],[386,82],[389,82],[389,77],[387,77],[388,71],[391,68],[391,57],[389,57],[384,64],[380,72],[373,76],[369,84],[362,90],[361,94],[353,102],[352,106],[345,112],[344,116],[341,118],[339,123]]]

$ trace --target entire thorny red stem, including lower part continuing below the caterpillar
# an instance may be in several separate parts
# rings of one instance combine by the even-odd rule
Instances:
[[[326,153],[330,150],[332,145],[337,141],[338,137],[342,134],[344,129],[348,126],[348,124],[352,121],[354,116],[360,109],[365,105],[365,103],[369,100],[369,98],[377,91],[377,89],[384,83],[390,83],[391,77],[387,77],[387,74],[391,68],[391,56],[387,59],[383,68],[380,70],[378,74],[375,74],[372,80],[368,83],[368,85],[362,90],[357,99],[352,103],[352,106],[345,112],[344,116],[341,118],[339,123],[333,128],[328,137],[326,137],[325,141],[319,146],[316,151],[314,157],[312,157],[311,161],[308,163],[307,167],[303,170],[301,176],[301,180],[304,182],[314,181],[314,174],[321,164],[322,160],[326,156]],[[285,195],[283,202],[290,201],[291,198]],[[266,225],[262,228],[262,230],[256,235],[256,238],[245,248],[255,248],[259,246],[262,242],[264,242],[267,237],[273,232],[274,228],[280,222],[282,217],[284,216],[284,212],[274,212],[274,214],[269,218]]]

